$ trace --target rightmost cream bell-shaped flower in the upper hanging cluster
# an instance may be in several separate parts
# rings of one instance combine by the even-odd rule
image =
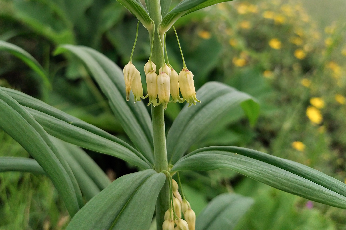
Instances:
[[[193,83],[193,74],[190,72],[190,70],[183,68],[179,73],[178,80],[181,95],[183,96],[183,99],[186,100],[187,103],[189,103],[189,107],[192,104],[196,105],[196,102],[200,102],[196,98],[196,90]]]

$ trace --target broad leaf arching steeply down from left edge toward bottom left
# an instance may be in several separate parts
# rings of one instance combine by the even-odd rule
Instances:
[[[82,205],[80,190],[78,188],[79,191],[75,191],[77,183],[72,182],[73,174],[66,171],[66,165],[64,167],[57,157],[58,153],[53,152],[54,146],[47,133],[21,105],[2,90],[0,114],[0,128],[24,147],[45,170],[73,217]]]

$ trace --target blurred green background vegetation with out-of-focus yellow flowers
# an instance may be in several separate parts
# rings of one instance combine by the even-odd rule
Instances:
[[[175,25],[196,88],[217,80],[261,104],[255,126],[239,109],[220,120],[191,150],[210,145],[254,148],[345,181],[345,4],[342,0],[237,0],[179,19]],[[115,0],[0,0],[0,40],[33,55],[49,73],[53,90],[4,51],[0,51],[0,86],[42,99],[126,141],[88,71],[72,56],[52,52],[59,44],[90,46],[123,67],[136,23]],[[171,65],[181,69],[173,35],[167,32],[167,51]],[[134,63],[142,71],[143,82],[148,40],[140,27]],[[168,126],[181,108],[169,104]],[[114,157],[88,153],[113,180],[137,171]],[[28,153],[0,131],[0,155]],[[222,192],[253,197],[255,203],[237,229],[346,228],[345,210],[298,198],[230,170],[182,174],[182,179],[197,215]],[[63,229],[68,222],[66,209],[46,176],[0,173],[0,229]]]

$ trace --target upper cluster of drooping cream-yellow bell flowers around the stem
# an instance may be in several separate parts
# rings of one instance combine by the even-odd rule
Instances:
[[[138,27],[136,39],[137,36]],[[188,70],[188,68],[186,68],[184,59],[184,68],[180,71],[179,75],[169,63],[165,63],[164,59],[162,61],[163,65],[160,67],[157,74],[156,65],[151,60],[150,56],[148,62],[144,65],[145,81],[147,84],[147,95],[143,96],[143,87],[142,82],[140,80],[140,73],[132,63],[132,55],[133,51],[129,63],[126,64],[126,66],[124,67],[124,80],[127,101],[129,100],[130,91],[132,90],[135,96],[135,103],[136,101],[140,101],[141,98],[148,97],[148,105],[153,104],[153,106],[155,107],[157,105],[163,104],[164,109],[167,108],[167,104],[169,102],[183,103],[186,100],[186,102],[189,103],[189,107],[192,104],[195,105],[196,102],[200,102],[196,97],[196,90],[193,82],[193,74],[190,70]],[[182,98],[180,97],[180,92]],[[170,99],[170,95],[172,99]]]

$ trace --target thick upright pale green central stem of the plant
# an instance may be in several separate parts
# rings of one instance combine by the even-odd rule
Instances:
[[[154,21],[155,26],[160,25],[162,21],[161,16],[161,4],[160,0],[147,1],[147,9],[149,16]],[[154,40],[152,61],[155,64],[160,64],[163,58],[160,45],[158,29],[156,28],[155,33],[149,31],[150,41]],[[154,34],[154,36],[153,36]],[[163,34],[160,34],[160,38],[163,41]],[[161,46],[161,47],[160,47]],[[157,68],[158,71],[159,68]],[[166,132],[165,132],[165,121],[164,121],[164,110],[163,105],[154,107],[152,105],[152,122],[154,131],[154,156],[155,156],[155,169],[157,172],[162,170],[168,170],[167,164],[167,151],[166,151]],[[156,201],[156,224],[157,229],[162,229],[162,223],[164,221],[164,215],[167,209],[169,209],[169,180],[166,179],[160,193],[158,194]]]

